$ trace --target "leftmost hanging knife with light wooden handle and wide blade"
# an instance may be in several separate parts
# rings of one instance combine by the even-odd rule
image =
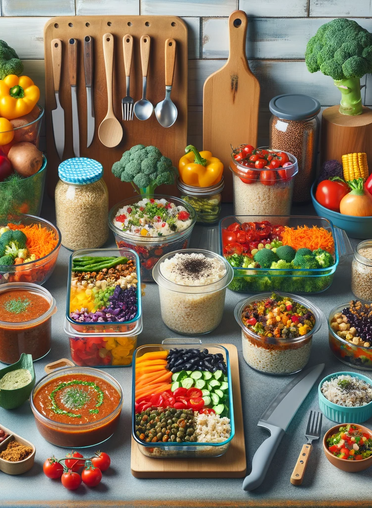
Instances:
[[[62,64],[62,41],[53,39],[52,45],[52,68],[56,109],[52,109],[52,125],[55,148],[58,157],[62,160],[65,148],[65,111],[59,102],[60,72]]]

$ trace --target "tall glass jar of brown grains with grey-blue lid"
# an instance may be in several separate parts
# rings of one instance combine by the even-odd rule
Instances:
[[[310,201],[318,157],[320,103],[301,93],[285,93],[271,99],[269,108],[270,147],[297,158],[293,202]]]

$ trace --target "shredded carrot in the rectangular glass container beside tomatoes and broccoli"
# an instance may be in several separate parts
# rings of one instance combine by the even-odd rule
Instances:
[[[290,245],[298,250],[307,247],[310,250],[323,249],[327,250],[330,254],[334,252],[334,242],[332,233],[324,228],[313,226],[297,226],[296,229],[284,227],[282,233],[283,245]]]

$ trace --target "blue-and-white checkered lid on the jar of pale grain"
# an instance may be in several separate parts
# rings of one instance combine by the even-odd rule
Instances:
[[[102,164],[87,157],[75,157],[63,161],[58,166],[58,176],[66,183],[97,182],[103,176]]]

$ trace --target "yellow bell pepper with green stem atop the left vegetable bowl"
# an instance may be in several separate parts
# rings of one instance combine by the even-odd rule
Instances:
[[[30,113],[37,104],[40,90],[27,76],[9,74],[0,80],[0,116],[13,120]]]

